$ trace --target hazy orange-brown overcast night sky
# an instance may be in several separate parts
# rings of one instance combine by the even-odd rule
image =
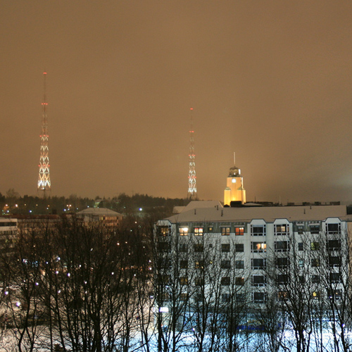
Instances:
[[[0,0],[0,192],[352,201],[352,1]]]

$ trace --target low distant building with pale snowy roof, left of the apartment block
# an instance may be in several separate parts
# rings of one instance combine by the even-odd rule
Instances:
[[[87,208],[77,212],[77,218],[85,223],[100,222],[106,227],[116,227],[122,220],[123,215],[108,208]]]

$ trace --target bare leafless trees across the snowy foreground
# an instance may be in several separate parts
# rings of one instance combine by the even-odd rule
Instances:
[[[0,256],[3,348],[351,351],[346,234],[290,235],[251,258],[221,234],[153,234],[155,221],[20,230]]]

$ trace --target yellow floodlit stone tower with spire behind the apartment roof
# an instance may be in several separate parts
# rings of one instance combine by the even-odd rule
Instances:
[[[241,169],[236,167],[236,158],[234,153],[234,166],[230,168],[227,176],[226,188],[224,191],[224,206],[230,206],[232,201],[241,201],[246,203],[246,190],[243,188],[243,177]]]

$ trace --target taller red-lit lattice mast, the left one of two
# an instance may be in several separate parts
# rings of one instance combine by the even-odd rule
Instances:
[[[49,135],[48,135],[48,116],[46,110],[48,103],[46,103],[46,72],[44,74],[44,102],[42,103],[42,133],[40,134],[40,159],[39,159],[39,178],[38,191],[51,191],[50,172],[49,172]]]

